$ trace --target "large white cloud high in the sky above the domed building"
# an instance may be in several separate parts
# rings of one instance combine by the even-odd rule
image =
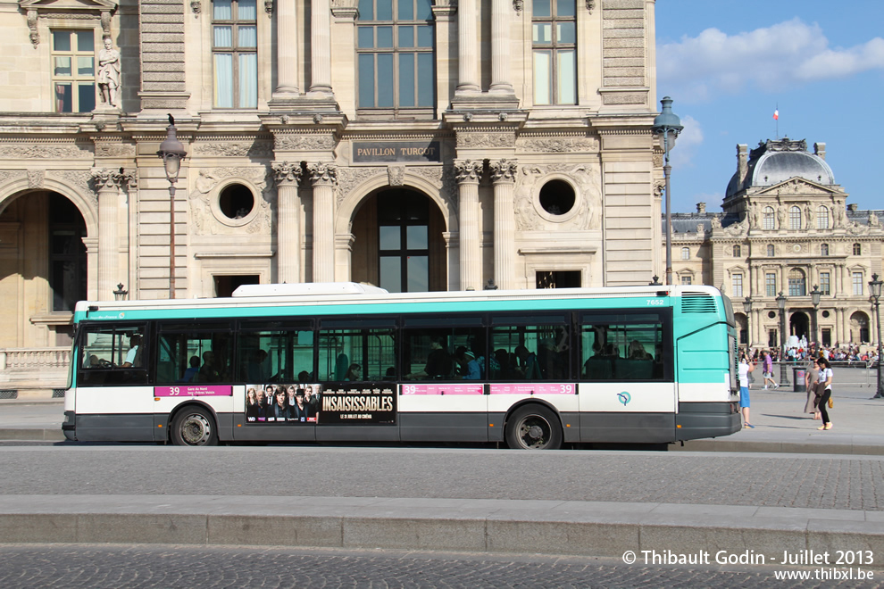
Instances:
[[[830,48],[819,25],[798,18],[730,36],[705,29],[657,50],[657,86],[665,94],[694,103],[749,87],[781,91],[875,69],[884,69],[881,37]]]

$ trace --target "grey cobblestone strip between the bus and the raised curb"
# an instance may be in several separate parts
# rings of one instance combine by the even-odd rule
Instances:
[[[0,494],[265,495],[884,509],[884,457],[476,449],[2,447]]]

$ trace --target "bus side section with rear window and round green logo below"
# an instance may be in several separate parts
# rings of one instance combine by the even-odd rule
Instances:
[[[580,440],[669,442],[677,409],[671,309],[580,316]]]

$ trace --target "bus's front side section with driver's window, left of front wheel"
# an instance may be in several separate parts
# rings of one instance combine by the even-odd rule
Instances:
[[[142,323],[83,323],[74,355],[79,441],[154,439],[151,336]]]

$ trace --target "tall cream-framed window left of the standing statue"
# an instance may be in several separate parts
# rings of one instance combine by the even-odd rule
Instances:
[[[96,42],[90,30],[52,31],[55,112],[96,108]]]

